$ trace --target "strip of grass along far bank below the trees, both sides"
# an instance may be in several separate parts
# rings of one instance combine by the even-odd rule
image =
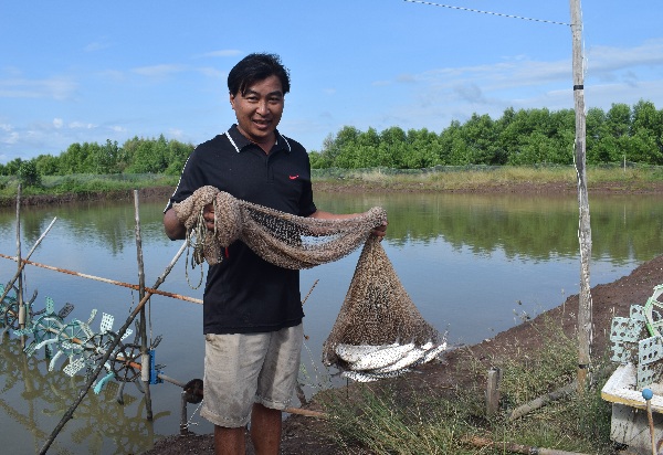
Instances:
[[[653,182],[663,182],[663,168],[654,166],[590,167],[588,186],[610,183],[615,190],[645,189]],[[364,186],[393,190],[453,191],[498,188],[509,184],[559,183],[573,188],[577,183],[572,166],[467,166],[436,167],[422,170],[398,169],[314,169],[314,183],[334,186]],[[0,176],[0,199],[14,198],[19,186],[15,176]],[[143,188],[175,188],[178,176],[166,174],[71,174],[43,176],[39,186],[23,186],[24,195],[61,195],[113,193]]]

